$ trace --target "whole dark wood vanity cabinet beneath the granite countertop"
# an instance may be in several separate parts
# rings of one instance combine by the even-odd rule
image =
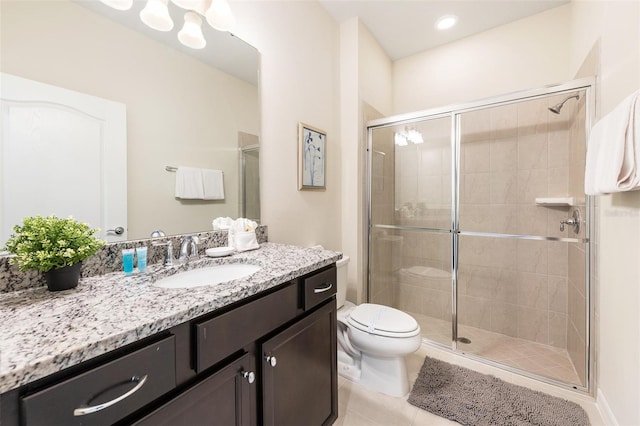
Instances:
[[[335,286],[335,265],[321,268],[14,389],[0,423],[330,425]]]

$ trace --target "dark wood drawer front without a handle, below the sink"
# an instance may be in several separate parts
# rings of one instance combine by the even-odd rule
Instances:
[[[296,285],[195,324],[196,372],[211,367],[300,313]]]

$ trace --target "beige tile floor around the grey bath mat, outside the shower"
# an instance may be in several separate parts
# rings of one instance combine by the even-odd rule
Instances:
[[[604,425],[593,398],[576,392],[560,389],[556,386],[509,373],[504,370],[474,361],[435,347],[422,345],[407,358],[410,385],[413,385],[424,357],[430,356],[443,361],[458,364],[485,374],[492,374],[510,383],[526,386],[550,395],[565,398],[580,404],[591,421],[592,426]],[[407,402],[407,397],[391,397],[371,391],[343,377],[338,380],[338,420],[336,426],[442,426],[458,423],[438,417]]]

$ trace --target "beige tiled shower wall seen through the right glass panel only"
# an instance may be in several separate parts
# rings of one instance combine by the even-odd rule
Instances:
[[[548,110],[565,96],[484,109],[462,116],[462,230],[572,237],[560,221],[569,207],[536,198],[567,197],[570,119]],[[472,325],[538,343],[567,345],[569,244],[463,236],[458,315]]]

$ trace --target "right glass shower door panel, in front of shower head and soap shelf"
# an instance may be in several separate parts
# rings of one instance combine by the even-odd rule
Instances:
[[[584,96],[549,110],[567,95],[457,115],[457,348],[585,386],[586,234],[562,224],[586,214]]]

